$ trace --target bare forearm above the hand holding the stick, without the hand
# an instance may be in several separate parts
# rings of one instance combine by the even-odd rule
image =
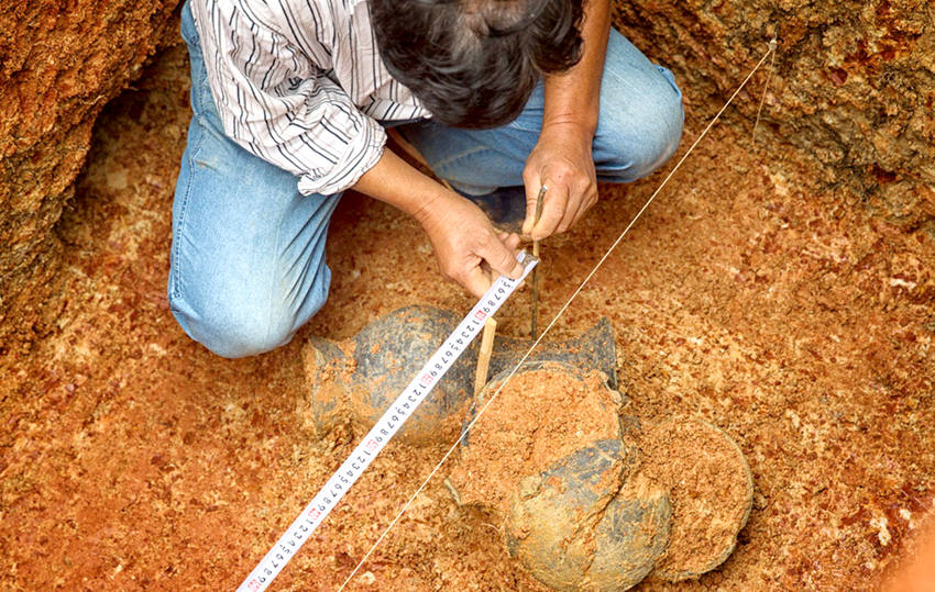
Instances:
[[[544,80],[543,127],[574,124],[594,135],[609,32],[609,0],[587,0],[581,31],[584,40],[581,60],[568,71],[548,76]]]

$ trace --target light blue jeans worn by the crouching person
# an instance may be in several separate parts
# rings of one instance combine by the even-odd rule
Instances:
[[[173,202],[169,304],[185,332],[216,354],[261,354],[288,343],[324,304],[331,281],[324,242],[341,196],[300,194],[295,176],[224,135],[187,4],[182,35],[194,115]],[[455,130],[426,120],[402,132],[439,177],[483,194],[522,185],[542,104],[540,85],[503,127]],[[625,182],[650,174],[675,150],[682,121],[671,72],[612,31],[594,137],[598,178]]]

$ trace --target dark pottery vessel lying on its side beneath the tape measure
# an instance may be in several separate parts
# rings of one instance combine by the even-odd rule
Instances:
[[[341,343],[312,338],[304,350],[310,398],[306,414],[312,429],[324,433],[349,420],[370,427],[409,384],[461,317],[432,306],[407,306],[381,316]],[[399,436],[409,442],[451,442],[471,400],[477,364],[476,339],[461,354]],[[512,369],[531,342],[498,336],[491,375]],[[616,357],[610,324],[601,320],[576,339],[541,343],[535,360],[558,360],[597,369],[616,384]]]

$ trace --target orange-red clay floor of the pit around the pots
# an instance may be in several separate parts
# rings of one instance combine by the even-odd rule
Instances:
[[[234,588],[354,444],[301,420],[308,336],[348,338],[409,304],[472,304],[439,278],[413,220],[349,196],[329,241],[331,299],[292,344],[223,360],[189,340],[165,298],[186,79],[176,48],[101,118],[61,225],[57,329],[0,366],[4,590]],[[692,139],[719,105],[689,99]],[[702,418],[752,470],[733,556],[700,581],[640,590],[864,590],[935,499],[935,245],[815,189],[804,166],[779,174],[793,156],[750,149],[748,133],[717,127],[700,145],[553,336],[609,317],[625,413]],[[666,170],[602,188],[578,227],[544,243],[546,320]],[[528,306],[528,291],[514,297],[499,332],[522,336]],[[276,589],[336,589],[443,448],[391,445]],[[449,470],[352,590],[537,589],[496,529],[450,500]]]

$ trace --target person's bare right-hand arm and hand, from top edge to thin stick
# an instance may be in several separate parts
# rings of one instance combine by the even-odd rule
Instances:
[[[609,0],[587,0],[581,60],[544,80],[546,104],[539,142],[526,160],[526,220],[522,234],[546,238],[570,228],[597,202],[592,143],[597,130],[601,77],[610,32]],[[542,216],[535,225],[536,199],[546,185]]]

